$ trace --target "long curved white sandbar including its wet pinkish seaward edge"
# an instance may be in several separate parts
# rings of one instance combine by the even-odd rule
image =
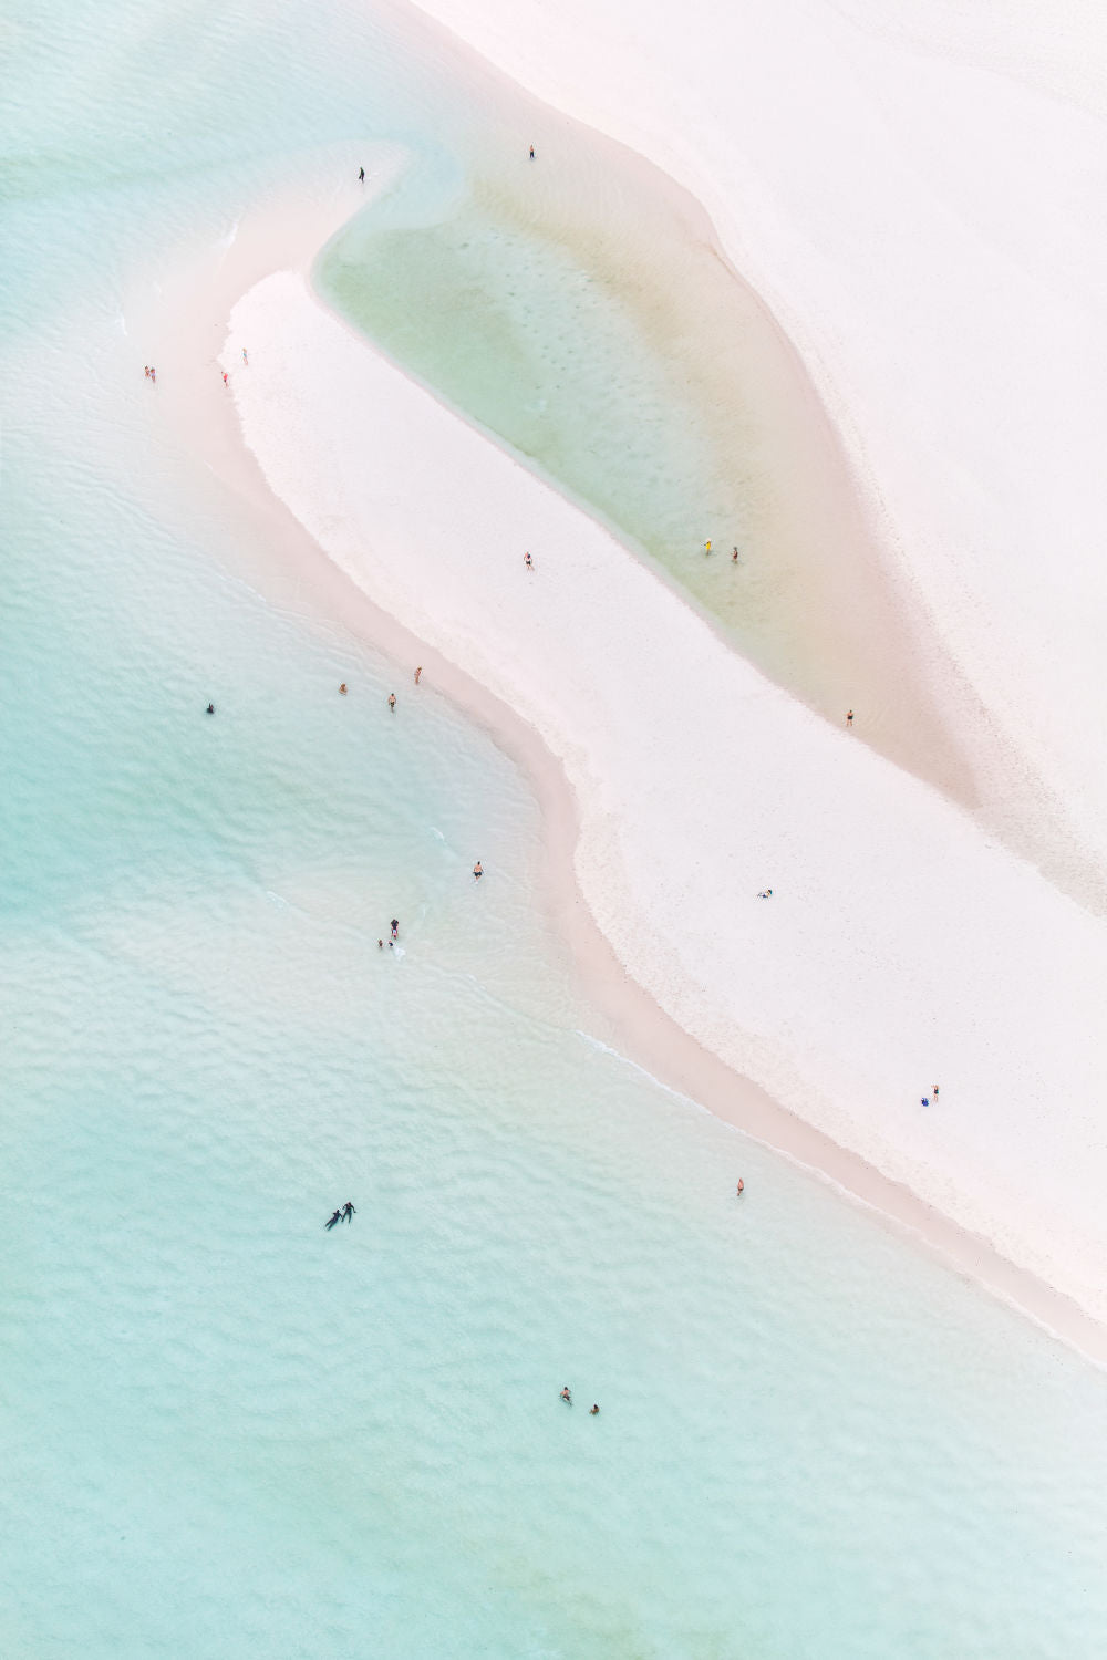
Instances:
[[[528,769],[553,908],[627,1054],[1107,1358],[1104,1149],[1080,1111],[1051,1124],[1094,1099],[1094,925],[330,317],[304,266],[358,201],[274,204],[158,300],[181,440],[267,526],[251,578],[423,662]],[[290,264],[237,305],[224,388],[219,319]]]

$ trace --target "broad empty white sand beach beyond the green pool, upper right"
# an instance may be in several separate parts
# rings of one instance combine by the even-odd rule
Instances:
[[[1036,820],[1102,908],[1102,10],[422,10],[705,204],[823,395],[936,654],[1032,774],[1026,800],[1017,765],[994,780],[992,822]]]

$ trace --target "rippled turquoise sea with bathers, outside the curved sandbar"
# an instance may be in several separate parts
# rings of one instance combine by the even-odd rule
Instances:
[[[448,181],[466,83],[8,48],[0,1653],[1102,1652],[1104,1378],[604,1047],[526,782],[158,423],[134,274],[350,134]]]

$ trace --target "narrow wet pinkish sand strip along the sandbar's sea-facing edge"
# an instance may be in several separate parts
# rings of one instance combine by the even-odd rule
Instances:
[[[317,236],[322,231],[322,239],[325,239],[329,229],[344,222],[352,206],[357,206],[357,196],[350,201],[350,193],[344,191],[329,201],[324,212],[314,211],[297,219],[295,241],[299,249],[304,251],[305,246],[310,246],[314,259],[319,241],[310,242],[307,232]],[[251,257],[246,259],[251,271],[256,272],[259,262],[264,266],[272,256],[271,236],[274,231],[277,241],[289,237],[287,209],[274,212],[272,222],[267,226],[247,226],[239,237],[241,252],[246,252],[247,242],[251,244]],[[310,264],[310,259],[307,262]],[[237,297],[234,289],[242,279],[242,261],[227,266],[221,259],[219,264],[222,269],[214,277],[214,289],[219,290],[221,299],[232,302]],[[206,297],[209,300],[206,310],[211,312],[211,300],[216,297],[211,287]],[[221,329],[216,339],[221,339],[222,334]],[[183,352],[181,369],[184,369],[186,378],[189,375],[188,362],[196,365],[191,354],[199,347],[202,357],[204,339],[211,352],[212,335],[214,330],[207,335],[202,325],[194,330],[194,339]],[[181,344],[184,345],[184,342]],[[315,624],[337,624],[349,629],[395,661],[402,661],[405,654],[412,661],[422,661],[427,689],[441,692],[470,719],[475,719],[493,742],[526,772],[536,790],[544,822],[544,908],[558,936],[564,940],[578,964],[589,1001],[611,1021],[627,1061],[642,1066],[666,1087],[803,1165],[818,1179],[840,1187],[853,1200],[871,1208],[880,1217],[881,1225],[909,1232],[954,1272],[978,1282],[1002,1301],[1029,1315],[1089,1360],[1105,1363],[1107,1328],[1079,1303],[1057,1286],[1011,1262],[973,1230],[943,1215],[905,1184],[881,1174],[856,1152],[841,1147],[818,1127],[773,1101],[762,1087],[744,1077],[679,1026],[671,1014],[661,1009],[649,989],[631,978],[593,916],[578,881],[574,855],[581,833],[579,802],[561,760],[551,752],[541,732],[518,710],[377,606],[319,548],[266,483],[256,458],[241,442],[239,420],[231,405],[224,402],[224,415],[212,422],[209,408],[214,403],[211,393],[216,377],[212,370],[214,354],[207,357],[202,369],[193,367],[191,370],[191,398],[184,398],[184,410],[188,413],[191,405],[193,418],[186,425],[193,428],[193,443],[202,433],[198,448],[221,483],[231,488],[236,496],[246,498],[251,513],[261,513],[266,531],[272,535],[272,549],[277,553],[277,559],[266,569],[252,571],[251,579],[257,583],[271,603],[295,604],[300,611],[307,604]],[[201,374],[211,377],[207,390],[204,390]],[[216,397],[222,395],[222,388],[217,385],[214,392]],[[201,407],[207,408],[204,420],[198,423],[194,417]]]

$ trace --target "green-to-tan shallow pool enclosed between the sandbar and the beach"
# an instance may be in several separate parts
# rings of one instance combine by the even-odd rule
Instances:
[[[453,166],[413,156],[332,239],[319,292],[768,676],[835,722],[858,704],[868,742],[971,797],[911,594],[705,214],[641,158],[496,91],[481,83],[455,128]]]

